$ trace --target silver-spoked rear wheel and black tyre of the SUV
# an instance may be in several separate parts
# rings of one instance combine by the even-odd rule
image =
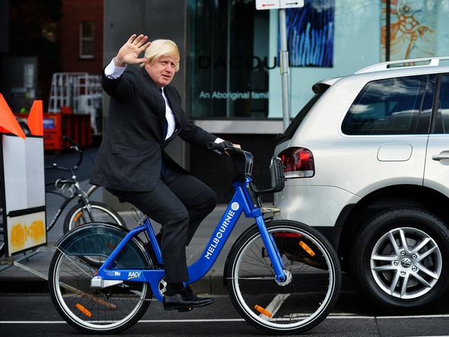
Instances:
[[[358,233],[351,256],[360,289],[383,307],[428,307],[448,289],[449,230],[429,212],[381,213]]]

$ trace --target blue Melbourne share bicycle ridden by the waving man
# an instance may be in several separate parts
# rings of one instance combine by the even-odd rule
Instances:
[[[190,281],[214,264],[242,212],[256,223],[232,246],[224,282],[232,303],[254,327],[271,334],[297,334],[327,317],[340,291],[340,265],[331,244],[317,230],[295,221],[266,221],[260,195],[284,188],[279,158],[271,161],[274,187],[257,190],[253,155],[227,152],[235,167],[234,197],[198,261]],[[161,249],[148,218],[127,230],[116,224],[85,224],[59,239],[48,272],[51,299],[62,318],[91,334],[111,334],[136,324],[155,298],[163,300],[165,272]]]

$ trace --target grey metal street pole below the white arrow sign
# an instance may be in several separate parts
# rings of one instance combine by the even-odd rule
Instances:
[[[285,9],[279,10],[281,52],[280,69],[282,78],[282,116],[284,120],[284,132],[290,124],[290,104],[288,104],[288,50]]]

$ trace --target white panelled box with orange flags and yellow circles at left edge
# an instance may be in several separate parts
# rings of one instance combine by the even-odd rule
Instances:
[[[46,244],[42,101],[34,102],[28,129],[25,136],[0,94],[0,207],[8,256]]]

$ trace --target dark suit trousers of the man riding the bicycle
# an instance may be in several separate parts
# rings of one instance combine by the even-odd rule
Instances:
[[[159,179],[156,187],[148,192],[108,190],[162,225],[165,280],[169,283],[189,280],[185,246],[201,221],[217,206],[215,192],[185,172],[167,172],[167,179]]]

